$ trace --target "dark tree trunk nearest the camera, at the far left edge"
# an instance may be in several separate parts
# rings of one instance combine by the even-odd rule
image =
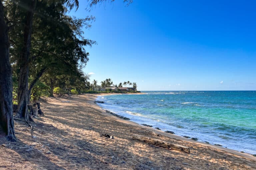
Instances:
[[[15,141],[12,108],[12,70],[10,64],[8,27],[0,0],[0,126],[8,140]]]

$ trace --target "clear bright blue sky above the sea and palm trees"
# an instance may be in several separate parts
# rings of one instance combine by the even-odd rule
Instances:
[[[161,3],[160,3],[161,2]],[[84,71],[91,81],[137,82],[138,90],[256,90],[256,1],[86,1],[84,36],[98,44]]]

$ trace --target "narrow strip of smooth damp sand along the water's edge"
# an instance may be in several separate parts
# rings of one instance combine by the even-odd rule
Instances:
[[[118,93],[116,94],[112,94],[112,95],[117,95]],[[146,93],[143,93],[143,94],[146,94]],[[107,95],[111,95],[111,94],[105,94],[105,93],[99,93],[95,96],[94,100],[96,100],[99,96],[107,96]],[[100,108],[100,110],[102,111],[102,114],[106,114],[108,116],[111,116],[111,117],[114,117],[118,120],[120,120],[120,118],[117,118],[109,113],[105,113],[103,112],[103,109],[96,103],[91,103],[92,105],[96,105]],[[123,119],[121,119],[123,120]],[[188,142],[193,142],[193,143],[196,143],[196,144],[201,144],[203,146],[206,146],[206,147],[212,147],[212,148],[215,148],[215,149],[221,149],[223,151],[227,151],[227,152],[230,152],[232,154],[236,154],[236,155],[239,155],[239,156],[244,156],[246,158],[251,158],[253,160],[256,160],[256,157],[255,156],[252,156],[252,154],[250,153],[242,153],[240,151],[237,151],[237,150],[234,150],[234,149],[229,149],[229,148],[225,148],[225,147],[222,147],[222,146],[217,146],[217,145],[213,145],[213,144],[208,144],[208,143],[205,143],[205,142],[202,142],[202,141],[195,141],[195,140],[192,140],[192,139],[189,139],[189,138],[185,138],[185,137],[182,137],[182,136],[179,136],[179,135],[175,135],[175,134],[170,134],[170,133],[166,133],[162,130],[157,130],[157,129],[154,129],[154,128],[150,128],[150,127],[146,127],[146,126],[143,126],[141,124],[138,124],[136,122],[133,122],[133,121],[130,121],[130,120],[124,120],[123,123],[126,123],[126,124],[131,124],[131,125],[135,125],[135,126],[140,126],[142,128],[147,128],[148,130],[153,130],[153,131],[157,131],[157,133],[161,134],[161,135],[164,135],[164,136],[167,136],[167,137],[170,137],[170,138],[175,138],[177,140],[184,140],[184,141],[188,141]]]

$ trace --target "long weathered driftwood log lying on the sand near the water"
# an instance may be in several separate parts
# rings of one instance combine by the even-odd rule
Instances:
[[[182,146],[179,144],[174,144],[174,143],[169,143],[163,140],[159,139],[154,139],[154,138],[149,138],[149,137],[144,137],[144,136],[133,136],[132,139],[136,139],[145,143],[149,143],[155,146],[163,147],[163,148],[168,148],[171,150],[178,150],[182,151],[185,153],[190,153],[190,148],[186,146]]]

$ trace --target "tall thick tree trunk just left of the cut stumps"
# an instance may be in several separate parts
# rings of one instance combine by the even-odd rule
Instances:
[[[26,121],[29,119],[28,115],[28,76],[29,76],[29,54],[31,46],[31,33],[32,33],[32,21],[34,10],[36,6],[36,0],[33,0],[29,5],[25,27],[24,27],[24,45],[22,53],[19,59],[20,75],[18,84],[18,111],[16,116],[18,118],[25,118]]]

